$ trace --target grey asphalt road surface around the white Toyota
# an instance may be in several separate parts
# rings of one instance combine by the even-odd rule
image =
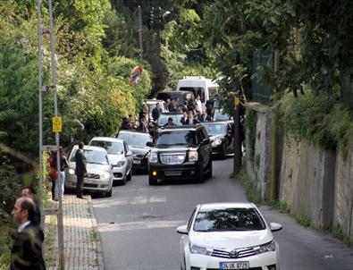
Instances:
[[[245,201],[244,190],[233,179],[232,159],[214,161],[214,177],[204,183],[164,182],[148,186],[147,174],[133,175],[125,186],[113,188],[112,198],[93,198],[107,270],[180,269],[180,235],[198,203]],[[281,250],[283,270],[353,269],[353,249],[328,234],[303,228],[288,215],[260,207]]]

